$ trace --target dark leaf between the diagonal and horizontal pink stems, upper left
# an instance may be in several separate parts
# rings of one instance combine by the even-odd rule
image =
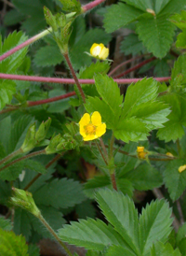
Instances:
[[[33,63],[37,66],[50,66],[60,64],[63,60],[59,47],[45,46],[37,50]]]

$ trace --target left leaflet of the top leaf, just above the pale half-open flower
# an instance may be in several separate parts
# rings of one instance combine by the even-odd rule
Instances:
[[[112,7],[107,7],[104,15],[104,28],[107,33],[126,26],[126,24],[135,21],[143,12],[135,7],[127,6],[125,3],[119,3]]]

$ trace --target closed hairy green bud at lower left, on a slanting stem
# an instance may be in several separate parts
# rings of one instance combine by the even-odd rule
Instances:
[[[20,206],[21,208],[31,212],[35,217],[41,215],[40,210],[37,208],[33,201],[33,195],[31,192],[25,192],[16,188],[12,188],[14,195],[10,198],[10,202],[14,206]]]

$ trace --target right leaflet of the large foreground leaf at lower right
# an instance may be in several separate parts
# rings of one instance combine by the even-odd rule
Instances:
[[[171,209],[164,200],[156,200],[140,215],[140,250],[148,255],[155,241],[166,242],[171,232]]]

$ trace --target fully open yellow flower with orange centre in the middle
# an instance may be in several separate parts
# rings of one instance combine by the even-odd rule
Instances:
[[[93,140],[106,133],[106,124],[101,122],[101,116],[98,111],[95,111],[91,117],[88,113],[79,121],[80,135],[85,141]]]

